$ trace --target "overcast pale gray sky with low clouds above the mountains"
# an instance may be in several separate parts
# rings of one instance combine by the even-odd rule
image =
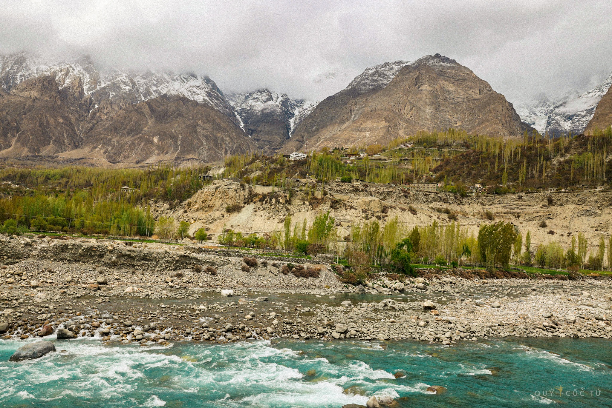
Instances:
[[[0,52],[207,74],[223,91],[321,99],[369,65],[441,53],[510,100],[612,71],[612,1],[0,0]]]

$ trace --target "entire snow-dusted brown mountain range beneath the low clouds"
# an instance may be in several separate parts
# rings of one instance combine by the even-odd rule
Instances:
[[[519,111],[539,129],[584,130],[610,84],[612,75],[592,91],[562,102],[543,96]],[[125,166],[388,143],[448,127],[504,137],[529,128],[503,95],[439,54],[368,67],[320,103],[269,89],[225,95],[208,76],[190,73],[99,70],[89,56],[0,55],[0,118],[0,157],[42,155]],[[188,134],[181,134],[186,127]]]

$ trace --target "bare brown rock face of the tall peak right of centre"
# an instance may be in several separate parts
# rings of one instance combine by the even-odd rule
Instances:
[[[486,81],[436,54],[403,65],[386,85],[349,86],[326,98],[296,128],[285,150],[388,143],[449,127],[517,137],[528,125]]]

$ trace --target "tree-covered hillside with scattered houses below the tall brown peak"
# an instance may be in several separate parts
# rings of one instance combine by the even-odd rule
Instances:
[[[612,177],[612,169],[605,162],[611,145],[610,127],[589,136],[570,133],[550,138],[534,132],[524,133],[523,139],[449,129],[417,132],[389,146],[324,148],[311,152],[307,160],[256,153],[237,155],[226,158],[224,177],[279,187],[290,183],[291,177],[304,178],[307,174],[323,183],[334,179],[392,184],[435,180],[458,194],[466,193],[466,185],[475,183],[487,185],[491,193],[580,188],[600,185]]]

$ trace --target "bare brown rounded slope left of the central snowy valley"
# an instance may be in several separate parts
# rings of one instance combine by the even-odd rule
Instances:
[[[256,150],[226,115],[204,103],[162,95],[137,104],[105,102],[91,114],[81,149],[64,157],[102,158],[113,165],[223,160]],[[111,114],[104,114],[103,112]]]

